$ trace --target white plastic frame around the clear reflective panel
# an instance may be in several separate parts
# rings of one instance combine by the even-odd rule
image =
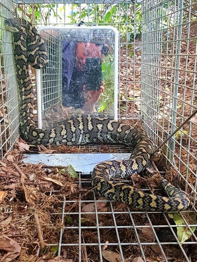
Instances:
[[[37,28],[38,32],[45,29],[73,29],[75,26],[41,26]],[[119,32],[113,26],[78,26],[77,29],[109,29],[114,32],[114,119],[118,120],[118,44]],[[41,108],[41,73],[36,69],[36,86],[37,86],[37,115],[38,128],[42,128],[42,108]]]

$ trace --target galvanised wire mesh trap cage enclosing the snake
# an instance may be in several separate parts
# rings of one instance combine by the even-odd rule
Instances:
[[[87,26],[116,28],[119,31],[118,119],[141,123],[159,145],[196,109],[196,7],[191,0],[1,0],[1,157],[7,155],[19,136],[18,89],[11,34],[3,25],[5,18],[25,14],[37,28],[78,25],[82,20]],[[53,37],[52,43],[61,53],[58,37]],[[59,56],[55,61],[58,70],[60,60]],[[56,84],[49,88],[54,97],[59,97],[61,79],[55,75],[52,80]],[[107,98],[107,94],[103,95]],[[72,212],[66,207],[75,200],[60,200],[60,208],[52,216],[57,216],[64,227],[58,232],[58,241],[47,243],[49,247],[58,246],[57,255],[67,251],[67,259],[74,261],[106,261],[103,253],[106,245],[113,259],[115,256],[122,261],[132,261],[135,257],[143,261],[196,261],[196,117],[165,144],[162,160],[167,162],[167,167],[171,166],[166,170],[168,177],[178,179],[179,186],[191,195],[190,213],[180,213],[177,222],[168,214],[131,211],[113,201],[98,200],[94,193],[82,199],[79,195],[77,210]],[[88,146],[90,153],[106,151],[130,152],[122,146],[108,145],[105,149],[100,145]],[[158,166],[161,165],[159,162]],[[78,183],[82,188],[90,186],[89,174],[79,173]],[[132,183],[137,182],[132,180]],[[144,185],[143,191],[151,190],[150,185]],[[58,192],[49,194],[58,195]],[[103,202],[107,204],[100,208]],[[84,211],[88,204],[96,208]],[[68,217],[72,222],[68,219],[65,223]]]

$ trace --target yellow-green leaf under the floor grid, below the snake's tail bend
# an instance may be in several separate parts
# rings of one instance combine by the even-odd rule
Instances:
[[[183,214],[184,216],[184,214]],[[179,215],[179,213],[174,213],[173,220],[176,225],[184,225],[185,222],[182,218],[182,216]],[[185,217],[185,220],[188,222],[188,224],[194,223],[196,224],[196,215],[194,212],[189,213],[189,217]],[[189,221],[188,221],[189,220]],[[196,227],[191,227],[192,232],[196,230]],[[189,230],[189,228],[186,227],[177,227],[177,237],[180,242],[185,242],[185,240],[189,239],[192,236],[192,232]]]

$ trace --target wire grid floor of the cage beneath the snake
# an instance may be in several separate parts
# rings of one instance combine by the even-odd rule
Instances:
[[[82,151],[88,149],[89,154],[93,153],[92,159],[96,159],[95,162],[99,162],[99,154],[94,153],[131,152],[131,149],[121,145],[106,147],[88,145],[79,148]],[[54,159],[56,156],[54,154]],[[47,159],[46,154],[45,157]],[[55,166],[57,162],[52,162],[52,164]],[[90,190],[92,188],[91,172],[85,174],[78,172],[78,175],[79,179],[76,181],[78,187]],[[130,183],[133,185],[135,181],[131,180]],[[148,184],[142,190],[153,193]],[[58,197],[58,192],[50,191],[49,196]],[[161,189],[154,190],[154,194],[158,192],[161,192]],[[194,233],[197,223],[188,222],[185,219],[187,212],[180,213],[184,224],[176,225],[167,213],[134,211],[123,203],[99,199],[93,191],[85,196],[83,191],[79,193],[77,205],[69,210],[74,203],[76,203],[76,198],[60,200],[60,211],[51,213],[55,220],[61,221],[58,241],[48,244],[49,247],[58,247],[57,255],[63,256],[66,253],[66,258],[73,261],[102,262],[107,261],[105,254],[107,251],[108,255],[115,258],[117,256],[119,259],[117,261],[132,261],[138,256],[144,261],[195,261],[196,255],[192,250],[197,244]],[[197,214],[195,207],[192,211]],[[181,242],[177,237],[178,227],[189,230],[191,237]],[[38,249],[38,254],[39,252]]]

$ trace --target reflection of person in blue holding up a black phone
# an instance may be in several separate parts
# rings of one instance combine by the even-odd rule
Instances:
[[[103,46],[94,43],[68,42],[63,39],[62,57],[62,104],[65,107],[81,108],[95,112],[95,103],[104,91],[102,81],[99,90],[87,90],[83,84],[83,70],[86,58],[101,58],[104,61]],[[104,49],[105,50],[105,49]]]

